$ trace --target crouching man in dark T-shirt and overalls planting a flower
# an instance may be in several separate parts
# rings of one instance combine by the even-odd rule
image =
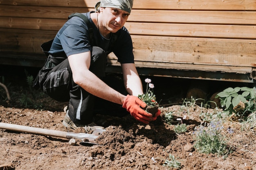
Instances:
[[[78,16],[70,18],[54,38],[47,62],[56,66],[47,73],[42,89],[57,101],[69,101],[64,126],[72,129],[81,126],[85,130],[103,128],[93,122],[99,108],[117,116],[125,111],[145,124],[160,115],[160,111],[155,117],[144,111],[146,104],[137,97],[143,94],[143,88],[134,64],[132,40],[124,27],[132,3],[132,0],[101,0],[96,4],[96,12],[83,13],[93,29],[92,40],[90,26]],[[105,75],[110,52],[121,63],[122,86],[128,94],[120,88],[119,79],[108,79]]]

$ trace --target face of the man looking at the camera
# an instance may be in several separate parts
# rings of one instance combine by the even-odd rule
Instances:
[[[112,33],[121,29],[130,15],[128,12],[116,8],[101,8],[100,10],[103,26]]]

